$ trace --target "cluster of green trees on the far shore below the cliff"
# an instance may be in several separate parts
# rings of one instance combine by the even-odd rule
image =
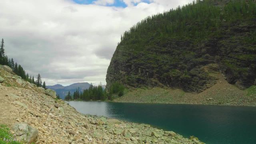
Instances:
[[[71,94],[68,92],[68,94],[65,96],[65,100],[112,100],[114,96],[123,96],[125,87],[115,82],[110,86],[109,91],[102,88],[102,85],[99,84],[98,86],[93,86],[92,83],[90,84],[90,87],[86,90],[83,90],[80,92],[80,88]]]

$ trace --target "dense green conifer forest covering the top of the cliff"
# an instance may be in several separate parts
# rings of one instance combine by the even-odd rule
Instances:
[[[137,44],[137,46],[132,45],[133,48],[135,47],[134,50],[141,50],[146,44],[150,44],[152,38],[203,39],[209,34],[218,36],[222,23],[232,27],[237,20],[251,19],[255,16],[254,0],[230,1],[224,8],[214,6],[212,0],[196,0],[162,14],[148,16],[124,32],[118,45]],[[254,43],[256,43],[256,35],[254,35]]]

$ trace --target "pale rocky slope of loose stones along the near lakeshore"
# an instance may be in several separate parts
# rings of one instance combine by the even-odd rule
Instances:
[[[196,137],[184,138],[147,124],[80,114],[63,100],[55,100],[42,88],[31,87],[2,68],[0,76],[0,124],[12,128],[16,139],[31,136],[25,139],[35,144],[203,144]],[[38,133],[22,131],[29,127]]]

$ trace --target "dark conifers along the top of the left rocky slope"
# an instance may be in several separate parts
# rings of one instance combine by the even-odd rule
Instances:
[[[28,73],[26,74],[25,70],[22,68],[20,64],[17,62],[14,62],[13,58],[8,58],[8,56],[5,54],[4,50],[4,39],[2,38],[1,44],[0,44],[0,64],[1,65],[6,65],[12,68],[12,71],[20,76],[22,79],[32,83],[36,84],[38,87],[43,87],[46,89],[46,83],[41,80],[40,74],[37,75],[36,81],[34,80],[34,76],[29,76]]]

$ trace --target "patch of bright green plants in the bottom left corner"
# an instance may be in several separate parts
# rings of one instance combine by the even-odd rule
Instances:
[[[14,141],[10,129],[0,124],[0,144],[22,144],[22,142]]]

